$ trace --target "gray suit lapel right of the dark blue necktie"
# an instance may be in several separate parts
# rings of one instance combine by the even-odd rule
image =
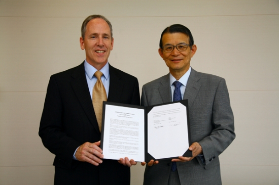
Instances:
[[[197,83],[199,79],[197,72],[192,68],[183,96],[183,100],[188,99],[189,107],[192,106],[200,89],[200,84]]]

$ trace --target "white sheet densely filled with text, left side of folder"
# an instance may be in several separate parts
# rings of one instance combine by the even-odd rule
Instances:
[[[101,141],[104,159],[145,161],[144,125],[144,109],[106,105]]]

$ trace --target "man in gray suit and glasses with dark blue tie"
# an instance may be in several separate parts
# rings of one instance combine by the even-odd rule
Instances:
[[[225,79],[190,67],[196,50],[190,30],[183,25],[171,25],[161,34],[159,55],[169,74],[143,86],[142,106],[176,101],[180,94],[188,99],[193,157],[149,161],[145,185],[222,183],[218,156],[235,138],[233,113]]]

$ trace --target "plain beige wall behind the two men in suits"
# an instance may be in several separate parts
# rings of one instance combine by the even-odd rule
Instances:
[[[115,38],[110,63],[143,84],[168,72],[160,34],[187,26],[191,61],[227,81],[236,139],[220,156],[223,184],[279,184],[278,0],[0,0],[0,184],[52,184],[54,155],[38,129],[51,74],[79,65],[80,27],[106,16]],[[131,184],[144,167],[133,166]]]

